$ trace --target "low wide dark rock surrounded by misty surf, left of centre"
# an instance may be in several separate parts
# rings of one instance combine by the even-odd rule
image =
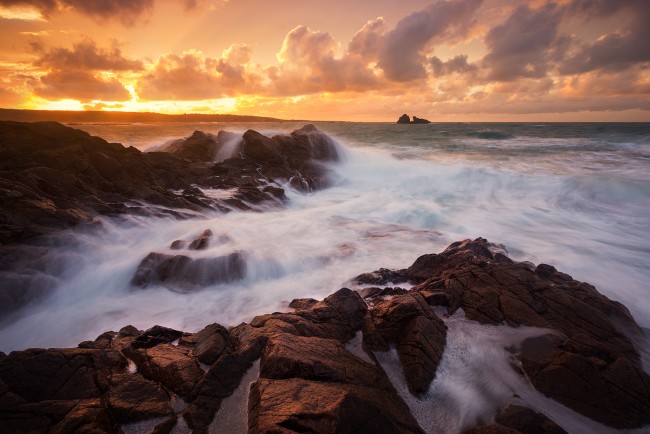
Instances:
[[[197,246],[202,242],[197,241]],[[184,292],[240,280],[245,274],[246,261],[240,252],[199,259],[152,252],[138,265],[131,284],[136,287],[163,285]]]

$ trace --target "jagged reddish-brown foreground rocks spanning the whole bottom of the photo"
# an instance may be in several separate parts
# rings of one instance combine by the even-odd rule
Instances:
[[[0,432],[117,433],[141,422],[149,432],[204,433],[219,427],[222,404],[239,388],[250,433],[423,432],[375,354],[395,350],[406,393],[426,395],[445,351],[445,316],[459,309],[480,324],[553,329],[512,349],[520,375],[604,425],[650,424],[650,378],[630,338],[642,331],[627,309],[549,265],[516,263],[491,247],[457,242],[407,269],[359,277],[406,281],[409,290],[377,287],[363,298],[344,288],[231,328],[127,326],[75,349],[0,354]],[[252,383],[241,384],[245,376]],[[564,432],[525,405],[485,422],[463,428]]]

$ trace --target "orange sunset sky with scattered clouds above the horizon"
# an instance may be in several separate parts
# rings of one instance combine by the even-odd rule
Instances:
[[[0,107],[650,121],[650,0],[0,0]]]

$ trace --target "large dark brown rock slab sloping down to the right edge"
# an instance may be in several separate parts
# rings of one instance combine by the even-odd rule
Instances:
[[[482,238],[453,243],[440,254],[418,258],[405,276],[418,284],[414,291],[447,306],[449,314],[463,309],[480,323],[556,330],[562,338],[538,341],[534,350],[523,345],[522,366],[535,388],[612,427],[650,423],[650,377],[625,334],[642,332],[629,311],[551,266],[531,268],[491,247]],[[389,315],[391,321],[399,317]],[[370,332],[373,325],[378,332],[383,326],[371,323]],[[376,348],[403,333],[397,326],[383,328],[370,333]]]

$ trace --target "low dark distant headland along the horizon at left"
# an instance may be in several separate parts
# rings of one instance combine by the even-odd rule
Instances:
[[[68,110],[0,109],[0,120],[18,122],[288,122],[263,116],[231,114],[179,114],[168,115],[150,112],[107,112]]]

